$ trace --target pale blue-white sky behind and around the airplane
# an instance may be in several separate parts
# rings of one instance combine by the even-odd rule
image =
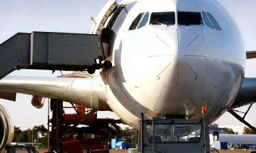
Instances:
[[[255,0],[220,0],[236,20],[246,50],[256,50],[256,1]],[[91,16],[96,18],[106,0],[0,0],[0,44],[12,35],[32,31],[48,31],[63,33],[89,33]],[[245,76],[256,78],[256,59],[246,61]],[[20,70],[10,75],[29,75],[56,77],[59,71]],[[16,102],[0,99],[9,112],[12,123],[27,129],[47,122],[47,103],[42,109],[31,105],[31,96],[18,94]],[[239,110],[245,111],[246,107]],[[100,117],[117,118],[115,114],[104,112]],[[106,116],[107,115],[107,116]],[[251,108],[246,119],[256,124],[256,104]],[[240,125],[241,123],[229,113],[216,120],[220,125]]]

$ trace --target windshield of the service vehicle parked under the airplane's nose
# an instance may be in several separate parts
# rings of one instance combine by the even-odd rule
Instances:
[[[150,143],[199,143],[201,124],[147,124],[147,138]]]

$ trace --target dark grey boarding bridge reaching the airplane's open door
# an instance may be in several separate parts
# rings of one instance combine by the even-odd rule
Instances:
[[[0,80],[16,69],[88,71],[110,69],[98,35],[17,33],[0,45]]]

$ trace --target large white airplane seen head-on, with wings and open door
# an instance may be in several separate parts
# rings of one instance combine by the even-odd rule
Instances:
[[[256,79],[244,78],[246,58],[256,52],[246,52],[236,22],[218,1],[111,0],[90,33],[102,38],[111,69],[80,78],[6,76],[1,98],[15,100],[19,92],[33,95],[35,107],[42,107],[45,97],[111,110],[130,126],[141,113],[146,119],[204,117],[211,123],[256,100]],[[6,135],[0,134],[0,150]]]

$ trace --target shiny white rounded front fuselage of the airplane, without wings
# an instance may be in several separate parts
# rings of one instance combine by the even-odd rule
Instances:
[[[205,116],[212,122],[226,112],[240,89],[246,56],[238,27],[224,7],[214,0],[123,3],[126,6],[111,27],[115,38],[106,57],[113,68],[100,71],[113,112],[132,125],[141,113],[146,118],[181,115],[201,119],[201,106],[206,105]],[[129,30],[134,19],[147,12],[146,24]],[[150,24],[154,12],[174,12],[175,24]],[[203,23],[178,24],[177,12],[200,12]],[[221,29],[208,27],[202,12],[212,14]],[[99,23],[91,33],[98,28]]]

